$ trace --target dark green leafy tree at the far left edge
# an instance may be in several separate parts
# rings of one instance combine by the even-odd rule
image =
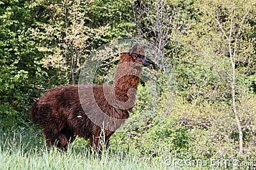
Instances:
[[[0,127],[28,122],[29,102],[36,92],[26,85],[42,74],[36,64],[42,55],[31,39],[34,18],[28,1],[0,1]]]

